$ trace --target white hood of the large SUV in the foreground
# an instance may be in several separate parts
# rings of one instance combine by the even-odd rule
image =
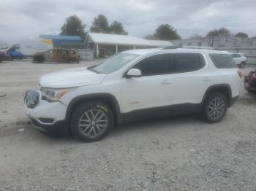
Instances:
[[[107,74],[97,74],[87,68],[68,69],[46,74],[40,79],[42,87],[78,87],[100,84]]]

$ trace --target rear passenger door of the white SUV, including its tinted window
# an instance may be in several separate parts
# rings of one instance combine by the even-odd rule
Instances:
[[[173,104],[198,104],[213,82],[213,74],[199,53],[173,54]]]

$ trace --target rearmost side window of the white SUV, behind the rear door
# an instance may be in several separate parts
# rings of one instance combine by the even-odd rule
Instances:
[[[209,54],[211,61],[217,69],[235,69],[236,63],[231,55],[228,54]]]

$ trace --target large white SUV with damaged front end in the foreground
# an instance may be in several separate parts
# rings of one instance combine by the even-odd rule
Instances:
[[[98,66],[47,74],[24,102],[39,130],[97,141],[131,120],[199,113],[219,122],[238,98],[240,78],[228,52],[129,50]]]

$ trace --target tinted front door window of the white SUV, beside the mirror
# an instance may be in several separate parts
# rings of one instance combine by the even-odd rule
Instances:
[[[140,69],[143,76],[169,74],[169,55],[152,55],[140,61],[134,68]]]

